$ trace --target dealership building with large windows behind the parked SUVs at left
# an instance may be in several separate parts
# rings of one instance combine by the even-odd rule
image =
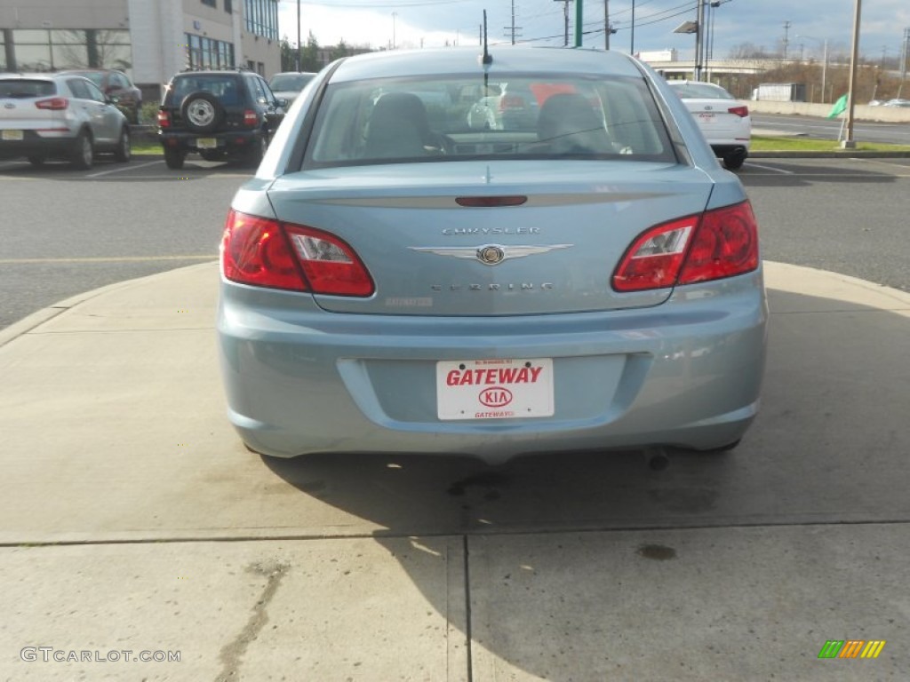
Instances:
[[[280,70],[278,0],[0,0],[0,71],[114,68],[157,100],[187,68]]]

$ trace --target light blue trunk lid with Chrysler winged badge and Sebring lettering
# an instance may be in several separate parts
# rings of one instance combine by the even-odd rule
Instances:
[[[672,287],[619,293],[613,270],[711,189],[685,165],[522,161],[312,170],[268,196],[279,220],[339,236],[369,269],[374,296],[315,296],[325,310],[496,316],[661,304]]]

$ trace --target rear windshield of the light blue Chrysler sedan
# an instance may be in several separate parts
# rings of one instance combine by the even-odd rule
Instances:
[[[329,85],[304,165],[521,157],[675,161],[642,79],[465,75]]]

